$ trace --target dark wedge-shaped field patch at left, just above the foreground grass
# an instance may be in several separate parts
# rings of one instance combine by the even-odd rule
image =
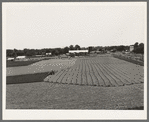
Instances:
[[[7,76],[6,84],[21,84],[21,83],[33,83],[42,82],[45,77],[49,75],[49,72],[36,73],[36,74],[26,74],[26,75],[16,75]]]

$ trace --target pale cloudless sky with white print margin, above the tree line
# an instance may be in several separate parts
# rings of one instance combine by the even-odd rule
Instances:
[[[146,41],[145,2],[3,3],[6,49],[114,46]]]

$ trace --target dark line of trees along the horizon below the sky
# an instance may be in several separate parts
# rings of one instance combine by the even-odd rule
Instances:
[[[16,57],[16,56],[34,56],[34,55],[45,55],[46,53],[51,53],[52,55],[60,55],[60,54],[66,54],[69,52],[69,50],[86,50],[88,49],[89,52],[91,51],[126,51],[129,50],[129,46],[89,46],[89,47],[80,47],[79,45],[70,45],[66,46],[64,48],[44,48],[44,49],[23,49],[23,50],[17,50],[17,49],[7,49],[6,55],[7,57]],[[144,44],[136,42],[134,44],[134,53],[141,53],[144,54]]]

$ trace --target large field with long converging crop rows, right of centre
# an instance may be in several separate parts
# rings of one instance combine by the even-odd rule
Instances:
[[[79,58],[72,67],[44,79],[51,83],[117,87],[144,82],[143,66],[111,56]]]

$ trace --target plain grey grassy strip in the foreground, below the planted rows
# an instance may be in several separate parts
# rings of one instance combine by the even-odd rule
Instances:
[[[143,84],[97,87],[36,82],[6,87],[6,109],[143,110]]]

